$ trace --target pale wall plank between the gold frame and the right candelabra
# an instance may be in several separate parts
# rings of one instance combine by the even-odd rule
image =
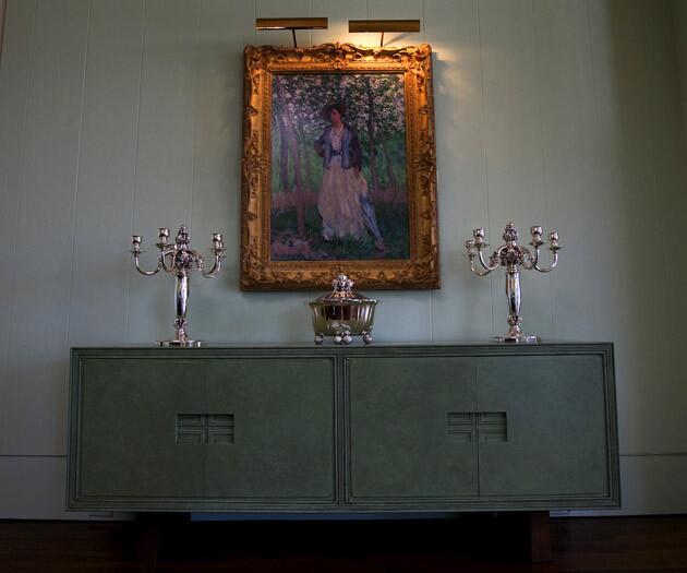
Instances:
[[[465,256],[466,239],[474,227],[485,226],[489,217],[478,24],[472,0],[424,2],[425,37],[431,38],[434,52],[437,119],[442,289],[432,294],[436,341],[486,339],[493,334],[493,279],[474,276]],[[502,302],[499,297],[497,305]]]

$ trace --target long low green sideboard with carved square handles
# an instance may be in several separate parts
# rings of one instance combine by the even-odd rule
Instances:
[[[74,348],[68,508],[619,506],[611,344]]]

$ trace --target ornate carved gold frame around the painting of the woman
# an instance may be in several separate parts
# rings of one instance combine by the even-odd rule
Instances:
[[[402,73],[410,258],[365,261],[272,261],[270,168],[273,73]],[[243,86],[241,289],[300,290],[332,285],[339,272],[365,289],[439,287],[432,48],[246,46]]]

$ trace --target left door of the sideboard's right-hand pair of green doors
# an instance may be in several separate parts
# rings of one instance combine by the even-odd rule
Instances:
[[[395,508],[475,497],[474,359],[351,357],[347,501]]]

